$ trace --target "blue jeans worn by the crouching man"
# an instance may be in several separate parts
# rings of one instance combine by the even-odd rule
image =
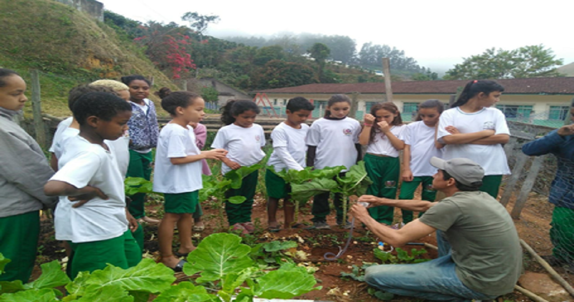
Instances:
[[[418,264],[375,265],[367,268],[369,285],[395,295],[429,300],[470,301],[495,299],[466,287],[456,276],[450,245],[437,230],[439,258]]]

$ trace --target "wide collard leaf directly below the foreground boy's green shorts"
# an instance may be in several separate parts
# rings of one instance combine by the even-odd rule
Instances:
[[[77,296],[84,296],[90,291],[108,285],[119,285],[125,291],[157,293],[169,288],[176,278],[172,269],[152,259],[144,258],[133,268],[122,269],[108,265],[103,270],[96,270],[89,276],[77,279],[72,284],[77,282],[82,287],[78,288],[76,284],[70,285],[69,289],[72,289],[72,293],[76,293]]]

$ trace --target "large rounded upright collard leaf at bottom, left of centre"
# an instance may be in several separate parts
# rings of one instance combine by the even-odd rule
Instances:
[[[251,248],[241,244],[241,237],[235,234],[211,234],[189,253],[184,273],[189,276],[201,272],[197,283],[223,279],[226,274],[239,273],[252,266],[250,252]]]

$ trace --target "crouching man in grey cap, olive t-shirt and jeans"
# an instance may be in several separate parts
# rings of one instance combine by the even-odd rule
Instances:
[[[421,218],[394,230],[371,218],[361,205],[352,206],[351,214],[395,247],[436,231],[439,258],[371,266],[365,281],[386,292],[429,300],[488,300],[512,292],[522,271],[522,249],[505,207],[479,191],[483,168],[465,158],[433,157],[430,163],[439,169],[433,187],[447,196],[440,202],[359,198],[369,206],[426,211]]]

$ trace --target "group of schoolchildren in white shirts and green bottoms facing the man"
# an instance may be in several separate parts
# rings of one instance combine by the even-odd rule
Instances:
[[[28,281],[39,232],[38,210],[55,204],[50,197],[60,199],[55,210],[56,239],[66,242],[72,278],[107,263],[122,268],[137,264],[143,249],[139,222],[156,221],[145,215],[145,195],[135,195],[126,203],[123,180],[126,175],[150,179],[152,162],[153,190],[165,197],[165,215],[158,228],[160,261],[181,271],[185,260],[180,257],[195,249],[192,228],[204,227],[198,191],[201,173],[211,173],[205,159],[220,160],[225,176],[265,157],[265,133],[254,123],[260,109],[253,101],[228,101],[222,108],[224,127],[216,134],[212,149],[201,151],[205,143],[205,127],[199,124],[205,115],[201,96],[160,89],[161,107],[172,117],[160,131],[156,109],[147,98],[151,83],[142,76],[122,77],[122,81],[96,81],[72,89],[69,108],[73,117],[61,122],[50,150],[54,173],[36,142],[11,121],[26,101],[24,80],[11,70],[0,69],[0,135],[7,142],[0,150],[3,158],[9,158],[2,160],[9,163],[0,165],[0,252],[12,259],[0,280]],[[501,145],[507,142],[509,131],[502,112],[490,106],[503,90],[494,81],[471,81],[453,108],[443,112],[440,101],[425,101],[418,121],[408,125],[402,123],[392,103],[374,105],[361,125],[348,117],[350,99],[334,95],[324,117],[309,127],[305,121],[315,107],[304,97],[294,97],[286,105],[286,120],[271,134],[273,152],[267,165],[275,172],[345,166],[344,174],[362,159],[362,146],[366,146],[364,162],[373,180],[368,194],[395,198],[401,175],[399,155],[404,150],[400,199],[413,199],[422,184],[422,198],[434,201],[430,183],[436,169],[429,159],[466,157],[484,167],[490,179],[484,181],[484,191],[496,196],[502,174],[509,172]],[[155,159],[152,148],[157,148]],[[281,228],[276,218],[280,199],[285,201],[285,228],[307,228],[294,221],[290,187],[283,179],[268,169],[265,182],[269,230]],[[258,171],[254,171],[239,189],[226,192],[227,198],[246,198],[243,203],[225,204],[232,229],[254,231],[251,212],[257,183]],[[328,193],[314,198],[311,228],[330,228],[328,199]],[[334,203],[337,223],[350,226],[343,221],[342,199],[335,195]],[[369,210],[378,222],[393,222],[393,208]],[[405,211],[403,221],[412,220],[412,215]],[[181,245],[174,252],[176,226]],[[25,236],[11,232],[14,228]]]

